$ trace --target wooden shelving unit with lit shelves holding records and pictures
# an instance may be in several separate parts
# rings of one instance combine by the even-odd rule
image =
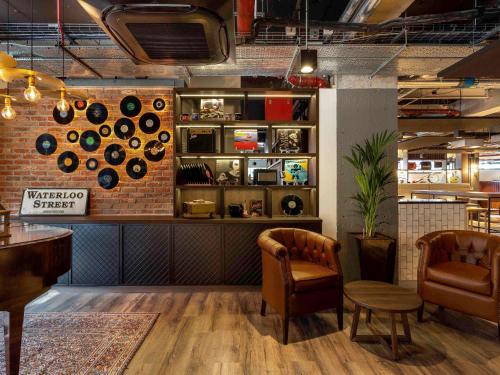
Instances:
[[[308,103],[307,118],[292,121],[274,121],[256,118],[259,115],[252,110],[252,104],[262,104],[266,98],[292,98],[294,103]],[[189,120],[183,121],[182,114],[199,113],[201,99],[223,98],[225,112],[240,113],[241,120]],[[261,116],[262,117],[262,116]],[[283,220],[287,218],[317,218],[319,158],[317,153],[319,139],[318,91],[314,89],[279,90],[279,89],[176,89],[174,91],[174,165],[176,171],[181,164],[192,163],[193,159],[206,163],[216,175],[217,160],[238,159],[242,170],[241,185],[182,185],[175,178],[175,215],[182,216],[182,203],[193,199],[205,199],[216,202],[217,217],[230,218],[227,206],[230,203],[243,203],[245,200],[263,201],[263,216],[247,220],[265,218]],[[212,152],[188,152],[186,134],[189,129],[212,128],[216,133],[216,148]],[[232,134],[235,129],[257,129],[265,133],[264,152],[237,152],[233,147]],[[273,150],[273,140],[277,129],[302,129],[303,150],[298,153],[280,153]],[[308,160],[307,185],[254,185],[249,177],[249,169],[258,162],[269,168],[283,170],[284,160]],[[260,167],[259,167],[260,168]],[[278,173],[279,175],[280,173]],[[280,209],[281,199],[288,194],[298,195],[304,203],[304,212],[300,216],[286,216]]]

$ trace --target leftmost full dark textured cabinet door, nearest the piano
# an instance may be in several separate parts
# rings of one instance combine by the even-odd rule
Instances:
[[[73,229],[71,283],[117,285],[120,283],[120,226],[76,224]]]

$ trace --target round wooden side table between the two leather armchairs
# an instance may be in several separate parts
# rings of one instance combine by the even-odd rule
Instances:
[[[413,291],[397,285],[380,281],[360,280],[344,286],[344,294],[354,305],[354,317],[351,326],[351,341],[379,342],[387,350],[390,358],[398,360],[398,343],[411,343],[409,312],[417,311],[422,305],[422,299]],[[358,323],[361,308],[366,309],[366,325],[372,335],[358,335]],[[386,312],[391,316],[391,334],[385,335],[371,325],[372,311]],[[401,315],[404,335],[397,334],[396,316]]]

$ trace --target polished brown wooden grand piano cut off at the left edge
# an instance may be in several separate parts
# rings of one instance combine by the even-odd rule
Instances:
[[[24,307],[69,271],[73,232],[13,222],[10,233],[0,239],[0,327],[4,328],[6,374],[17,375]],[[8,319],[2,319],[4,311]]]

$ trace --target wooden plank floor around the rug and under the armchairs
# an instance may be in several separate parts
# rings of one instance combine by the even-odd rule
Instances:
[[[27,309],[160,313],[126,374],[500,374],[496,326],[447,310],[428,308],[419,324],[410,316],[414,344],[397,363],[379,344],[349,340],[352,312],[341,332],[332,312],[296,318],[283,346],[278,315],[259,310],[250,287],[53,288]],[[389,327],[382,314],[373,322]]]

